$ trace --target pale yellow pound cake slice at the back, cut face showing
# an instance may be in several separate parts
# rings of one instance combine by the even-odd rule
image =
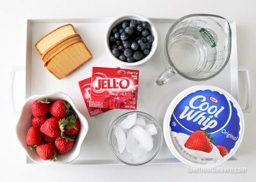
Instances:
[[[44,36],[35,44],[35,47],[40,53],[40,55],[43,55],[43,53],[47,51],[47,49],[51,48],[53,45],[67,38],[68,36],[74,34],[76,34],[76,30],[73,27],[73,25],[65,24],[64,26],[61,26],[49,32],[49,34]]]

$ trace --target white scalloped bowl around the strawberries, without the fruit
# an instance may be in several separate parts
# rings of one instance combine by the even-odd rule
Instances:
[[[30,148],[26,144],[26,134],[27,130],[32,126],[31,124],[31,105],[32,102],[35,100],[38,100],[39,98],[48,98],[50,101],[54,100],[65,100],[69,102],[69,104],[72,106],[72,109],[75,111],[77,117],[80,119],[81,129],[79,134],[76,137],[75,144],[71,151],[69,151],[67,154],[64,155],[57,155],[57,160],[54,162],[53,160],[43,160],[39,157],[39,155],[36,153],[36,150],[30,150]],[[16,125],[16,135],[18,137],[19,143],[22,145],[24,150],[27,152],[28,157],[34,162],[38,164],[43,165],[51,165],[51,164],[65,164],[70,163],[73,160],[75,160],[79,155],[81,151],[82,142],[84,141],[84,138],[88,132],[88,121],[82,115],[77,109],[76,106],[70,96],[68,96],[65,93],[62,92],[56,92],[52,94],[46,94],[46,95],[34,95],[24,102],[22,111],[20,113],[20,117],[18,120],[18,123]]]

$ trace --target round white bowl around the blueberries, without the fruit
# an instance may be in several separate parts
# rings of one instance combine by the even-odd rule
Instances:
[[[134,61],[133,63],[128,63],[126,61],[119,60],[117,57],[115,57],[112,54],[112,51],[109,47],[109,35],[110,35],[110,32],[112,31],[112,29],[115,26],[117,26],[118,23],[121,23],[124,20],[131,20],[131,19],[148,22],[148,24],[150,24],[151,34],[154,35],[154,41],[152,42],[150,53],[147,56],[145,56],[141,60]],[[148,18],[146,18],[145,16],[142,16],[140,14],[135,14],[135,13],[119,15],[116,18],[114,18],[112,20],[112,22],[109,24],[109,27],[108,27],[108,29],[106,31],[106,35],[105,35],[106,51],[109,53],[110,57],[112,57],[112,59],[114,59],[117,63],[122,64],[122,65],[126,65],[126,66],[137,66],[137,65],[141,65],[143,63],[146,63],[146,61],[150,60],[150,58],[154,55],[157,45],[158,45],[158,34],[156,32],[154,24]]]

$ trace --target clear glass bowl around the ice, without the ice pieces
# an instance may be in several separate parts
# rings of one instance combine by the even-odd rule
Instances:
[[[135,156],[135,159],[134,159],[133,155],[135,154],[134,153],[131,154],[127,152],[126,148],[123,150],[122,154],[119,154],[117,137],[115,136],[115,128],[118,126],[118,124],[121,123],[123,119],[127,118],[128,115],[131,115],[134,113],[137,114],[137,118],[143,118],[146,121],[146,124],[153,124],[157,131],[157,134],[151,136],[153,140],[152,150],[146,153],[144,152],[141,155],[141,158],[139,159],[138,159],[138,155]],[[127,135],[131,131],[131,129],[123,129],[123,131],[125,131],[126,138],[127,138]],[[155,156],[158,154],[163,144],[163,133],[158,122],[151,115],[143,113],[141,111],[131,111],[129,113],[120,115],[117,119],[115,119],[112,122],[112,124],[110,125],[109,133],[108,133],[108,142],[109,142],[109,147],[112,150],[115,158],[117,158],[118,160],[120,160],[125,164],[137,166],[137,165],[148,163],[155,158]]]

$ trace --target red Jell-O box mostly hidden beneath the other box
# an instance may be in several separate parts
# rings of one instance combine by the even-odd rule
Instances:
[[[105,113],[106,111],[111,110],[111,109],[89,106],[89,103],[90,103],[90,81],[91,80],[92,80],[92,78],[86,78],[85,80],[81,80],[81,81],[79,81],[79,86],[80,86],[80,90],[82,93],[82,97],[84,98],[85,105],[89,112],[89,115],[90,115],[90,117],[93,117],[94,115]]]

